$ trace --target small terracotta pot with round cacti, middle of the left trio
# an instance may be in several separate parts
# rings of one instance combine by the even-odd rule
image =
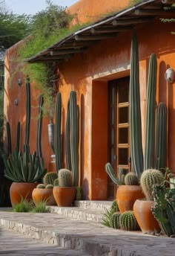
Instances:
[[[56,201],[53,196],[53,183],[58,178],[56,172],[46,173],[43,179],[44,184],[37,185],[33,189],[32,198],[33,202],[44,201],[46,205],[56,205]]]

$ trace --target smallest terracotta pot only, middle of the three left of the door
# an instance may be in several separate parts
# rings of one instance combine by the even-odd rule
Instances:
[[[46,205],[56,205],[53,188],[34,188],[32,198],[35,203],[44,201]]]

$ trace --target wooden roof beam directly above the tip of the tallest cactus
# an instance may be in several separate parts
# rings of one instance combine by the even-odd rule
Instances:
[[[146,22],[153,22],[153,18],[131,18],[131,19],[118,19],[113,20],[113,26],[117,25],[132,25],[132,24],[139,24],[139,23],[146,23]]]

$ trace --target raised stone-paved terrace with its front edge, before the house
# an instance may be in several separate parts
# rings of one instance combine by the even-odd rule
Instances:
[[[0,212],[0,223],[36,240],[94,256],[175,255],[174,238],[115,230],[59,214]]]

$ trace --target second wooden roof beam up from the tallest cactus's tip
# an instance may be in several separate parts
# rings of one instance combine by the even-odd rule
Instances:
[[[175,16],[175,11],[168,11],[168,10],[153,10],[153,9],[138,9],[138,10],[135,10],[134,11],[134,14],[135,15],[138,15],[138,16],[156,16],[156,15],[159,15],[159,16],[168,16],[168,15],[171,15],[171,16]]]

